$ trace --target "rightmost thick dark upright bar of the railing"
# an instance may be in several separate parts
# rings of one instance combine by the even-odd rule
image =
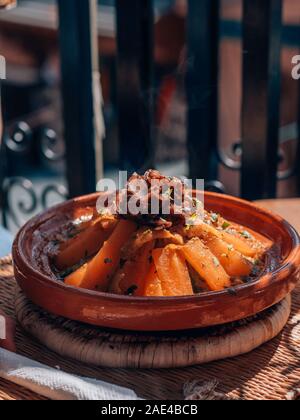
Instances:
[[[282,0],[244,0],[242,196],[277,192]]]

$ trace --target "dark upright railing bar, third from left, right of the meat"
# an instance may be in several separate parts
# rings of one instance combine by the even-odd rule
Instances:
[[[218,0],[189,0],[186,89],[192,179],[217,178],[219,82]]]

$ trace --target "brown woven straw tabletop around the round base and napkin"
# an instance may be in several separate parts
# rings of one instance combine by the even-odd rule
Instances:
[[[0,260],[0,308],[14,316],[15,280],[9,259]],[[283,333],[261,348],[235,359],[182,369],[124,370],[95,368],[58,356],[32,340],[20,328],[18,352],[67,372],[134,389],[146,399],[182,399],[190,380],[218,380],[219,392],[246,400],[285,399],[300,382],[300,290],[293,295],[292,316]],[[172,344],[170,344],[172,348]],[[19,387],[0,380],[0,399],[37,399]]]

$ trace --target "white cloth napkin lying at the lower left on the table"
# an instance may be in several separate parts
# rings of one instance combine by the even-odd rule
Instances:
[[[52,400],[139,399],[129,389],[69,375],[3,349],[0,349],[0,377]]]

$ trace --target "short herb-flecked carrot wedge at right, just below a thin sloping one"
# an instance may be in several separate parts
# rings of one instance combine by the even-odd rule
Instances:
[[[249,276],[253,265],[246,260],[241,253],[236,251],[233,246],[219,238],[212,238],[206,245],[211,252],[218,258],[226,273],[232,277]]]

